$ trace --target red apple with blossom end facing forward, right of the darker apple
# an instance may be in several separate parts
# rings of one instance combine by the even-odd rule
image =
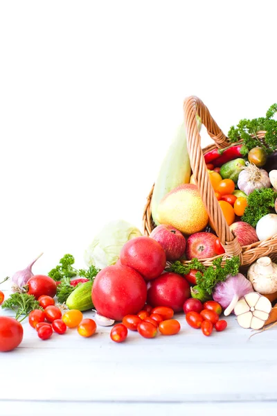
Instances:
[[[216,256],[214,244],[217,236],[211,232],[196,232],[186,242],[186,258],[208,259]]]

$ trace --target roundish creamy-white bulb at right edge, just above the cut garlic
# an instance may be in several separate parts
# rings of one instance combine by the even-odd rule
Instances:
[[[262,295],[277,292],[277,264],[272,263],[269,257],[260,257],[251,264],[247,272],[247,279],[253,288]]]

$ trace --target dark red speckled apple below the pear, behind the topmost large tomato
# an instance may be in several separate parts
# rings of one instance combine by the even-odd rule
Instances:
[[[161,244],[168,261],[178,260],[186,250],[185,237],[178,229],[170,225],[158,225],[153,229],[150,238]]]

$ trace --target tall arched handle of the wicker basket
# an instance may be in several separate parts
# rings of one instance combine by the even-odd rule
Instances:
[[[208,108],[204,103],[195,96],[190,96],[184,101],[184,119],[186,127],[186,136],[188,142],[188,154],[190,157],[190,165],[193,169],[195,182],[199,189],[208,216],[214,225],[217,236],[224,246],[227,256],[239,255],[242,260],[242,248],[238,243],[229,225],[226,223],[222,209],[215,197],[215,191],[211,185],[208,176],[204,155],[201,148],[201,137],[197,127],[197,117],[199,116],[202,123],[206,126],[208,134],[211,136],[217,147],[224,148],[228,146],[228,141],[222,130],[211,116]]]

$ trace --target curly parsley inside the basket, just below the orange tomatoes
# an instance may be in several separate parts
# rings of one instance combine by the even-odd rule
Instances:
[[[256,227],[260,218],[271,213],[276,198],[277,192],[272,188],[254,189],[247,197],[247,207],[242,221]]]

